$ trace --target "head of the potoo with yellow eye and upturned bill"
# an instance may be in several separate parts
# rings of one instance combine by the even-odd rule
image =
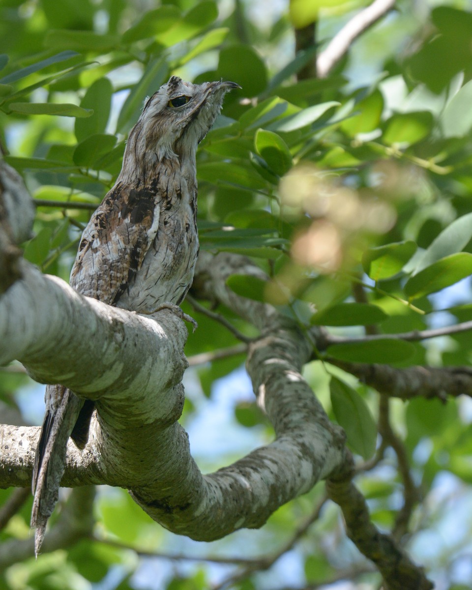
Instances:
[[[192,84],[172,76],[145,104],[128,139],[129,155],[148,164],[195,156],[234,82]],[[126,158],[126,154],[125,154]],[[136,162],[139,164],[139,162]],[[148,166],[146,166],[147,168]]]

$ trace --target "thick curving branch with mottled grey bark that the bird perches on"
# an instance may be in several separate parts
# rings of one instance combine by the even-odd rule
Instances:
[[[13,239],[8,235],[7,247]],[[278,506],[328,478],[329,494],[342,507],[349,535],[376,563],[385,588],[431,587],[401,548],[369,522],[365,500],[350,482],[353,464],[343,431],[329,422],[301,375],[316,333],[309,337],[273,307],[227,288],[225,279],[234,273],[266,278],[250,260],[202,254],[194,291],[225,304],[260,330],[250,345],[247,369],[276,440],[208,476],[198,470],[177,422],[186,329],[175,312],[165,309],[150,319],[116,309],[81,296],[21,258],[17,263],[0,297],[0,363],[18,359],[32,378],[61,383],[97,407],[86,448],[68,445],[63,485],[127,487],[162,526],[212,540],[263,525]],[[0,426],[0,487],[29,486],[39,430]],[[73,516],[51,530],[45,550],[67,546],[90,530],[89,519],[77,522],[81,507],[92,512],[91,492],[83,493],[71,496]],[[5,543],[0,567],[33,550],[32,539]]]

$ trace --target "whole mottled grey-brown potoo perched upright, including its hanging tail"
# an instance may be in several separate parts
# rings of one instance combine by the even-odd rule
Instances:
[[[122,170],[91,216],[71,271],[83,295],[138,313],[177,306],[198,255],[196,161],[234,82],[191,84],[177,76],[146,102],[129,134]],[[58,499],[68,438],[84,448],[93,403],[48,385],[35,457],[31,526],[38,554]]]

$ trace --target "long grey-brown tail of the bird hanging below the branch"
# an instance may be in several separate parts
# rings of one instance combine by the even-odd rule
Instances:
[[[35,456],[31,526],[36,528],[36,556],[40,552],[48,519],[58,499],[65,468],[67,441],[84,403],[61,385],[48,385],[48,388],[57,388],[57,393],[50,389],[47,398],[57,399],[59,402],[54,409],[47,408]]]

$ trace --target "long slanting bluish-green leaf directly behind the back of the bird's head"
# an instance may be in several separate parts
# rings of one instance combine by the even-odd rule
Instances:
[[[165,60],[157,58],[149,61],[139,82],[133,86],[127,99],[124,101],[116,124],[117,132],[123,132],[124,127],[130,119],[137,119],[139,117],[145,97],[150,96],[159,89],[167,74],[168,65]]]

